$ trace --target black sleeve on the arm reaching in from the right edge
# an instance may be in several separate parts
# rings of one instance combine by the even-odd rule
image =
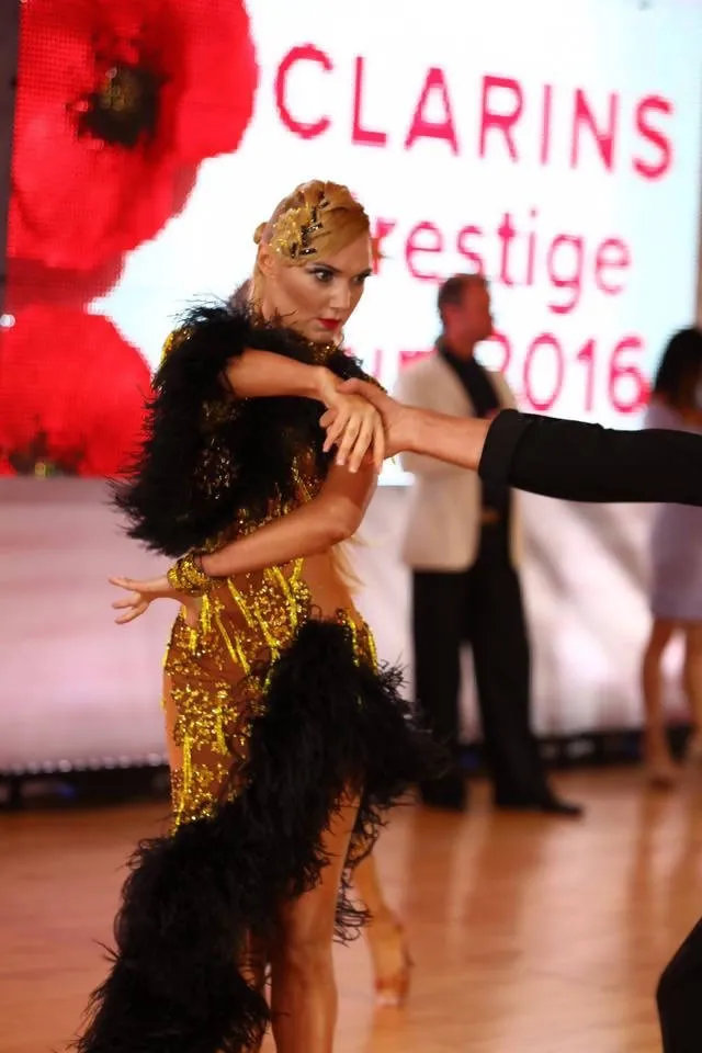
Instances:
[[[702,505],[702,435],[508,409],[488,431],[478,472],[490,484],[568,501]]]

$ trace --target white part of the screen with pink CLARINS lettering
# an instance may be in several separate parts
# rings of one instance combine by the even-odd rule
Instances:
[[[247,276],[279,199],[336,179],[382,236],[348,337],[385,384],[431,347],[437,282],[482,268],[502,332],[484,354],[524,407],[635,423],[637,373],[694,305],[702,3],[248,10],[261,79],[242,144],[94,310],[156,362],[184,304]]]

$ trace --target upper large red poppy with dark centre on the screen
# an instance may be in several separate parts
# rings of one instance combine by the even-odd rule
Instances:
[[[9,251],[87,271],[152,238],[258,83],[242,0],[22,4]]]

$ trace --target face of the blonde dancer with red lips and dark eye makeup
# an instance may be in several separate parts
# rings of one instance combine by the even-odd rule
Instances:
[[[363,235],[299,267],[285,264],[264,246],[259,264],[267,279],[263,316],[278,315],[308,340],[331,343],[340,339],[372,273],[371,239]]]

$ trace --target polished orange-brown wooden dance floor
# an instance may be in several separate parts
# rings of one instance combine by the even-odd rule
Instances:
[[[656,795],[636,770],[559,780],[585,822],[403,809],[378,860],[416,961],[375,1011],[362,941],[338,949],[337,1053],[657,1053],[656,976],[702,913],[702,774]],[[0,816],[0,1050],[71,1035],[104,963],[134,842],[165,806]],[[268,1046],[267,1046],[268,1049]]]

